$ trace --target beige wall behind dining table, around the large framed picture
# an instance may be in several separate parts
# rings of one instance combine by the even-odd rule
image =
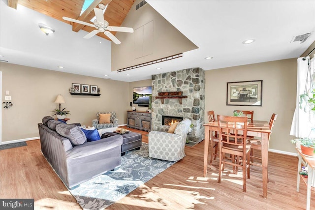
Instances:
[[[289,135],[296,104],[296,66],[296,59],[287,59],[205,71],[206,111],[231,115],[235,109],[254,110],[254,120],[268,121],[276,113],[269,149],[296,153],[290,143],[294,137]],[[251,80],[263,80],[262,106],[227,106],[226,83]]]

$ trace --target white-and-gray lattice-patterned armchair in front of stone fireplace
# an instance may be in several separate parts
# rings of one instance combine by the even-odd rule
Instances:
[[[161,131],[149,132],[149,156],[161,160],[176,161],[185,156],[187,134],[190,131],[191,121],[184,119],[178,123],[174,133]],[[168,130],[167,126],[160,129]]]

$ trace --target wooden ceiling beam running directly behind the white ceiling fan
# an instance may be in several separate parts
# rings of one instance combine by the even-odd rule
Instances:
[[[111,0],[94,0],[93,3],[82,13],[82,15],[77,19],[83,22],[90,22],[90,20],[95,16],[94,7],[96,7],[99,3],[103,3],[104,5],[111,2]],[[78,32],[84,27],[82,24],[73,23],[72,30]]]

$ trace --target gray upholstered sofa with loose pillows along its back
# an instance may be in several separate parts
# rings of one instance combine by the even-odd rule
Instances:
[[[87,142],[79,126],[50,116],[38,123],[38,130],[43,155],[68,188],[121,165],[121,135]]]

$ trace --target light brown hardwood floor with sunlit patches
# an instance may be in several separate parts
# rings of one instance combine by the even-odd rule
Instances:
[[[148,134],[142,141],[148,143]],[[0,151],[0,198],[33,198],[35,209],[81,209],[40,151],[39,140],[28,146]],[[261,168],[251,166],[247,192],[242,174],[226,166],[218,183],[218,159],[203,177],[204,141],[186,147],[186,156],[144,183],[109,210],[302,210],[306,207],[306,185],[296,192],[297,157],[269,152],[268,199],[262,198]],[[311,209],[315,210],[315,194]]]

